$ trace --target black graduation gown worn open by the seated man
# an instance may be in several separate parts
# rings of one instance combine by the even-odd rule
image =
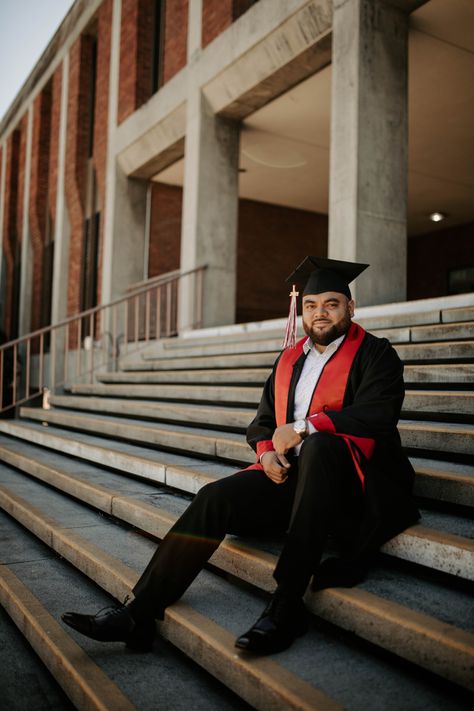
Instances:
[[[294,420],[294,397],[306,355],[296,361],[288,394],[287,422]],[[255,419],[247,430],[247,441],[256,450],[257,442],[269,440],[276,428],[275,371],[268,378]],[[397,422],[405,395],[403,364],[385,338],[366,333],[352,363],[343,408],[327,410],[335,431],[370,437],[374,454],[363,459],[365,473],[364,515],[346,531],[346,557],[366,559],[419,518],[412,498],[414,470],[401,446]]]

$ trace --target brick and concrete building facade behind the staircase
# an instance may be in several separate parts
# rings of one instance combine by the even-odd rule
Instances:
[[[306,254],[370,263],[361,305],[473,290],[473,30],[468,0],[76,0],[0,124],[7,338],[204,265],[204,325],[279,317]]]

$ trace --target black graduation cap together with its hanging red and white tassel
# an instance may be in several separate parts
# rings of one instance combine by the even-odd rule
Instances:
[[[359,274],[362,274],[368,266],[368,264],[358,264],[357,262],[343,262],[339,259],[305,257],[301,264],[298,264],[295,271],[286,279],[287,282],[293,284],[293,290],[290,293],[290,313],[286,324],[283,348],[291,348],[296,343],[296,297],[299,295],[299,292],[296,291],[296,284],[304,287],[303,296],[306,294],[322,294],[325,291],[336,291],[351,299],[349,284]]]

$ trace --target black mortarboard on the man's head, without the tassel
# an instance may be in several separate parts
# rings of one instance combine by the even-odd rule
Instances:
[[[305,294],[322,294],[324,291],[337,291],[351,299],[349,284],[354,281],[368,264],[343,262],[339,259],[323,257],[305,257],[286,281],[304,285]]]

